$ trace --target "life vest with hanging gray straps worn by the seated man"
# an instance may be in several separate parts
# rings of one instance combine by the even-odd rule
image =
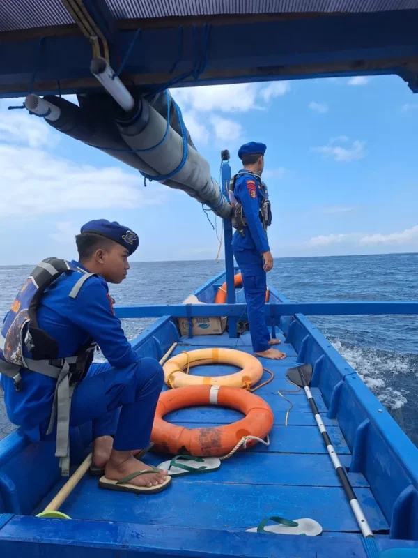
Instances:
[[[24,389],[21,370],[38,372],[56,379],[47,434],[52,432],[56,420],[55,455],[60,458],[63,475],[68,475],[70,469],[68,432],[72,391],[86,376],[97,344],[90,339],[75,354],[58,358],[58,342],[40,329],[36,310],[47,287],[63,273],[69,275],[77,272],[83,273],[83,276],[70,291],[69,296],[72,299],[77,297],[84,282],[95,274],[87,273],[65,259],[42,259],[17,294],[0,333],[0,372],[13,379],[17,391]]]

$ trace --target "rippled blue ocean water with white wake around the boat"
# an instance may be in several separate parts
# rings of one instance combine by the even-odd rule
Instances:
[[[215,262],[132,264],[116,304],[180,303],[223,269]],[[0,315],[33,266],[0,267]],[[283,258],[268,274],[294,302],[416,301],[418,254]],[[123,320],[133,339],[153,319]],[[418,316],[311,317],[418,446]],[[98,357],[100,359],[100,356]],[[1,409],[0,438],[13,429]]]

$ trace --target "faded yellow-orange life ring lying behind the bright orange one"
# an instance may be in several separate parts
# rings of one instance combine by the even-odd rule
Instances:
[[[201,364],[223,363],[241,368],[240,372],[227,376],[192,376],[189,368]],[[187,372],[183,370],[187,367]],[[263,365],[252,354],[236,349],[196,349],[183,351],[169,359],[164,366],[164,380],[171,388],[185,386],[198,386],[210,384],[211,386],[233,386],[249,388],[254,386],[263,375]]]

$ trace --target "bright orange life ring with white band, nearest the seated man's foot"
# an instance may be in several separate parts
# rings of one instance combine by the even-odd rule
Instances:
[[[245,414],[232,424],[215,427],[185,428],[167,423],[167,413],[196,405],[219,405]],[[272,430],[274,416],[270,406],[258,395],[229,386],[187,386],[163,391],[157,403],[151,441],[155,450],[194,457],[219,457],[229,453],[244,436],[265,438]],[[248,440],[247,447],[256,440]]]

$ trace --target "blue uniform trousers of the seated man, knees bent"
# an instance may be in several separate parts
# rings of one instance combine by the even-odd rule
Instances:
[[[92,421],[93,439],[114,436],[117,451],[145,448],[163,384],[164,372],[155,359],[140,359],[125,368],[93,363],[72,395],[70,425]],[[40,425],[42,437],[48,422]]]

